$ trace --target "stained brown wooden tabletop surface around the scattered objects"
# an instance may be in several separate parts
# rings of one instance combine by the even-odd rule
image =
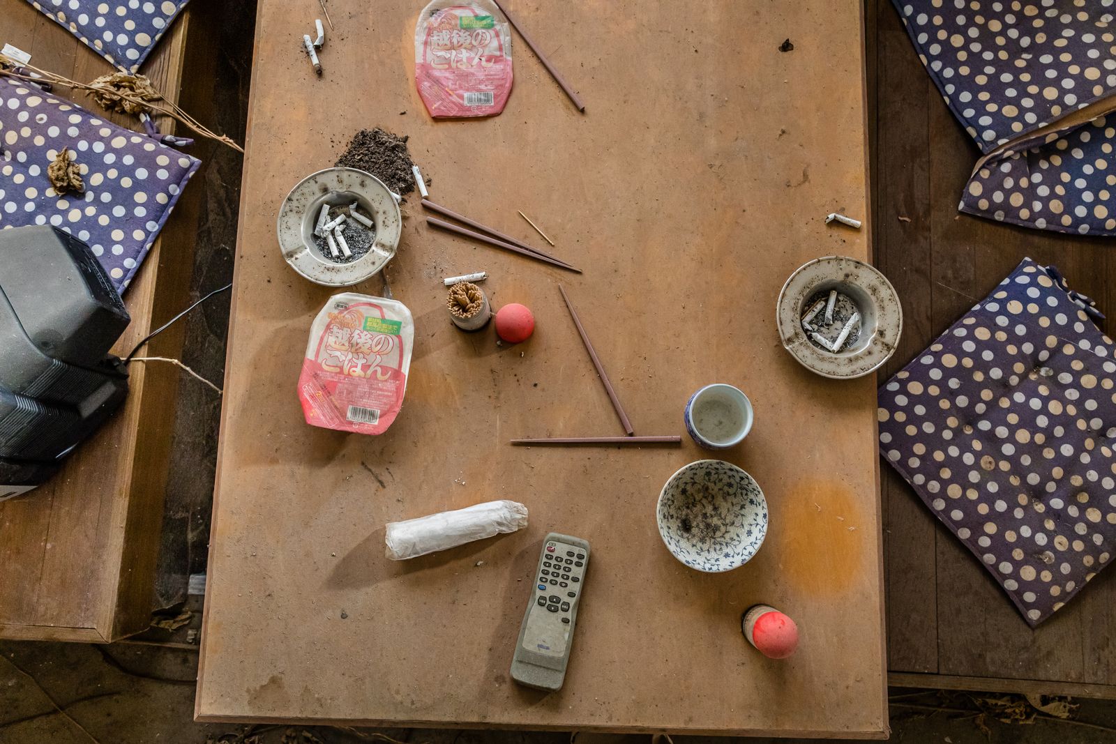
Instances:
[[[465,122],[433,122],[417,98],[415,3],[329,9],[316,79],[298,40],[317,3],[259,4],[199,718],[885,736],[875,380],[814,376],[775,328],[798,265],[868,254],[867,230],[824,224],[867,214],[859,2],[517,0],[588,113],[517,42],[507,109]],[[275,224],[299,178],[376,125],[411,135],[432,199],[536,241],[522,210],[585,273],[429,230],[410,199],[389,274],[415,354],[402,415],[373,438],[302,421],[296,380],[333,292],[285,264]],[[528,342],[450,325],[441,278],[479,269],[497,307],[535,310]],[[757,424],[724,454],[770,506],[747,567],[698,573],[660,540],[660,487],[709,454],[689,441],[508,445],[619,433],[559,281],[636,433],[682,433],[706,383],[751,396]],[[384,558],[385,522],[502,497],[528,505],[528,529]],[[542,695],[508,668],[550,530],[588,539],[594,566],[566,686]],[[757,601],[798,621],[792,659],[741,638]]]

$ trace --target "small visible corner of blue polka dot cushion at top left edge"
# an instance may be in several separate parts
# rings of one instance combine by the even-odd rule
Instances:
[[[98,55],[135,73],[187,0],[28,0]]]

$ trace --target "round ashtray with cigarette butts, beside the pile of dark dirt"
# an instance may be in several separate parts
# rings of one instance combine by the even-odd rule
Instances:
[[[287,263],[326,287],[376,274],[395,255],[403,218],[392,192],[356,168],[327,168],[296,184],[279,210],[279,248]]]

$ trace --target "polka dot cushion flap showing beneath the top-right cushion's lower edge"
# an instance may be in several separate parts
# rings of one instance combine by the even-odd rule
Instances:
[[[977,168],[959,209],[1040,230],[1116,234],[1113,118],[1012,145]]]

